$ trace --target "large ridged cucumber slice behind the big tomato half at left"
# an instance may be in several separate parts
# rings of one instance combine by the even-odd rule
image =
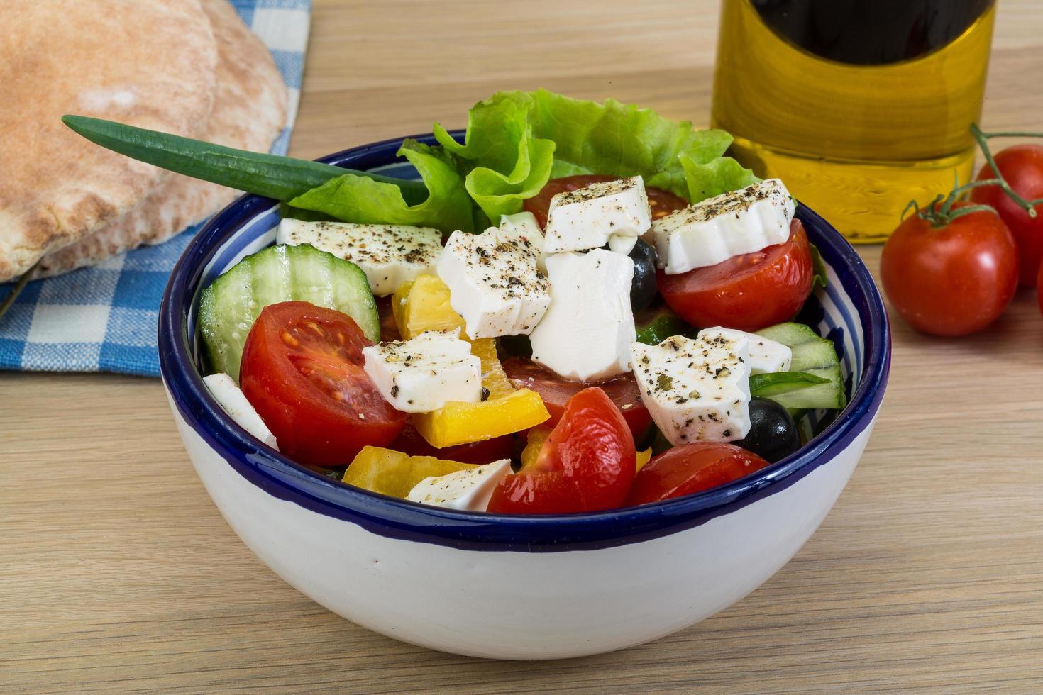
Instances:
[[[238,382],[243,345],[261,309],[291,300],[343,312],[370,341],[381,339],[377,302],[361,268],[310,244],[269,246],[203,290],[199,334],[211,372],[224,372]]]

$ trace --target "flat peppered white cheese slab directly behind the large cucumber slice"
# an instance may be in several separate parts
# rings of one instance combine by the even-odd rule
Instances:
[[[403,282],[429,272],[442,253],[442,232],[401,224],[285,219],[275,232],[275,243],[311,244],[350,260],[366,274],[369,289],[378,297],[393,294]]]

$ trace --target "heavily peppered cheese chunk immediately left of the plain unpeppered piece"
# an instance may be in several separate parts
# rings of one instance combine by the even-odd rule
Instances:
[[[547,276],[536,269],[538,240],[516,228],[480,234],[455,231],[438,260],[450,305],[470,338],[532,332],[551,303]]]

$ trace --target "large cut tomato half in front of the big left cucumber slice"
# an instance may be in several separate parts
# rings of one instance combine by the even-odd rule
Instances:
[[[261,312],[239,381],[283,453],[308,466],[343,466],[398,435],[406,414],[362,371],[368,345],[350,317],[331,308],[291,301]]]

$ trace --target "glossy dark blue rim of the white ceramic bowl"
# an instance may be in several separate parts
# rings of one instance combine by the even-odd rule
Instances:
[[[462,131],[454,132],[460,136]],[[432,134],[414,135],[434,143]],[[404,139],[356,147],[319,160],[354,169],[396,162]],[[504,516],[425,506],[343,485],[261,445],[211,397],[193,361],[189,312],[203,269],[242,224],[276,204],[245,195],[217,214],[185,250],[160,311],[163,379],[185,422],[232,468],[268,494],[392,539],[468,550],[547,552],[593,550],[639,543],[692,528],[781,492],[842,453],[872,424],[891,364],[888,316],[876,284],[854,248],[825,220],[801,205],[804,223],[825,260],[842,277],[860,317],[866,359],[847,407],[797,453],[757,473],[687,497],[636,507],[574,515]]]

